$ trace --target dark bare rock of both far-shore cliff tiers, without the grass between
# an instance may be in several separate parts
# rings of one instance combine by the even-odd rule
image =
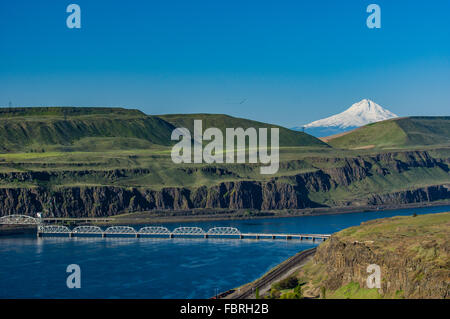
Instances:
[[[92,177],[115,183],[130,175],[151,174],[142,169],[109,171],[80,170],[0,173],[6,183],[36,183],[36,187],[0,188],[0,215],[34,214],[48,211],[52,216],[110,216],[123,211],[181,210],[194,208],[282,210],[322,206],[309,195],[326,193],[337,186],[349,186],[373,176],[386,176],[413,167],[437,168],[448,173],[448,164],[426,152],[386,153],[372,157],[310,159],[317,168],[311,172],[273,178],[270,181],[236,180],[211,187],[167,187],[161,190],[118,186],[49,186],[70,176]],[[283,163],[285,167],[301,163]],[[208,168],[211,174],[236,178],[223,169]],[[382,205],[432,202],[450,199],[450,184],[416,187],[391,193],[359,197],[341,205]]]

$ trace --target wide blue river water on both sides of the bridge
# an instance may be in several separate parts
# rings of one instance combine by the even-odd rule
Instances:
[[[163,226],[326,234],[375,218],[445,211],[450,206]],[[0,237],[0,298],[209,298],[315,245],[298,240]],[[69,264],[81,268],[79,289],[67,288]]]

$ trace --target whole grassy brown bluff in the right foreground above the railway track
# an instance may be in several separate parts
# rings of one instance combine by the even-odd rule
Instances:
[[[367,287],[367,266],[376,264],[381,296],[450,298],[449,221],[443,213],[363,223],[321,244],[311,269],[321,269],[320,286],[329,292],[355,282]],[[370,240],[355,240],[359,231]]]

